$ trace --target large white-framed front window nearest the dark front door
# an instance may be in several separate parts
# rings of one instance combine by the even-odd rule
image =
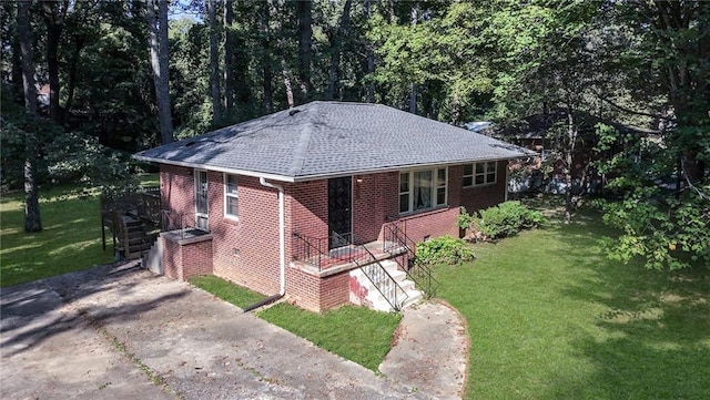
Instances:
[[[399,173],[399,213],[446,205],[446,168]]]

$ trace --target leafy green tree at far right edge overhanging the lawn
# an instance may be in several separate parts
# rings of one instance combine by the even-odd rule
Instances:
[[[605,206],[605,222],[622,230],[607,240],[607,249],[613,258],[640,258],[655,269],[710,265],[710,2],[609,3],[615,23],[633,34],[620,54],[631,66],[643,65],[629,69],[623,83],[640,88],[632,92],[636,104],[645,104],[649,93],[665,102],[643,112],[657,115],[662,135],[604,166],[618,176],[609,186],[623,197]],[[674,193],[666,185],[673,178],[680,183]]]

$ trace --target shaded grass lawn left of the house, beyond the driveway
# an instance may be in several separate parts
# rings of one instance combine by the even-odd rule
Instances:
[[[155,185],[156,175],[142,178]],[[24,193],[0,199],[0,287],[109,264],[114,259],[111,233],[101,246],[99,197],[80,199],[75,186],[40,189],[42,230],[24,233]]]

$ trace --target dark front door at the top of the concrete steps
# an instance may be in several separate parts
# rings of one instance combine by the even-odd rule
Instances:
[[[328,180],[329,248],[345,246],[352,240],[352,178],[345,176]]]

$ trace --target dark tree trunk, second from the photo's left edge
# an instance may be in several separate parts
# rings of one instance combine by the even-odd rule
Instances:
[[[49,78],[49,114],[52,120],[62,124],[63,113],[59,106],[59,41],[64,28],[64,17],[69,1],[42,1],[42,18],[47,25],[47,74]]]

